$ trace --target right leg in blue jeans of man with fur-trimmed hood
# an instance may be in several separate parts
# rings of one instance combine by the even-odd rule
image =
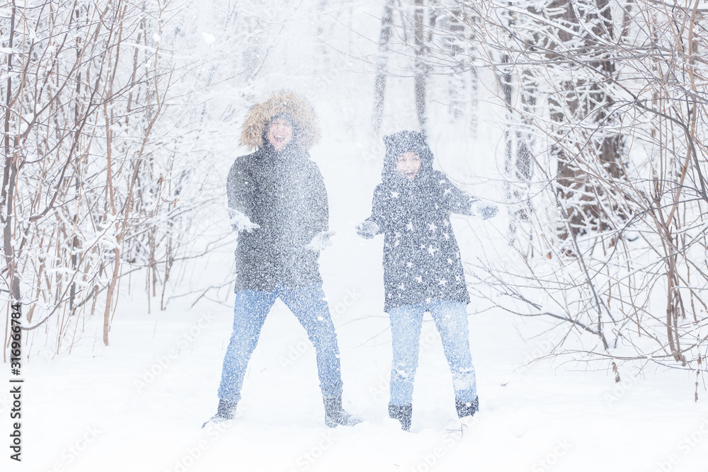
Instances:
[[[319,386],[324,398],[341,397],[342,377],[334,323],[321,284],[283,288],[280,299],[300,322],[314,345]]]

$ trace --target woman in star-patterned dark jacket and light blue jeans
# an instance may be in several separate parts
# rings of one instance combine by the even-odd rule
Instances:
[[[450,213],[487,219],[497,208],[464,194],[433,170],[433,153],[423,134],[399,132],[384,137],[384,144],[382,182],[374,192],[371,217],[357,231],[367,239],[384,234],[384,310],[393,347],[389,416],[408,431],[426,311],[440,332],[452,371],[457,415],[464,418],[479,409],[467,329],[469,294]]]

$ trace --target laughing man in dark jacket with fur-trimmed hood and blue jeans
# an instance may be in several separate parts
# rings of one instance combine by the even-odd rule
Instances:
[[[312,106],[289,92],[258,103],[244,122],[241,144],[256,151],[236,159],[227,180],[232,225],[239,231],[236,303],[219,406],[210,421],[234,418],[246,366],[280,298],[315,347],[325,424],[358,422],[342,408],[339,348],[317,261],[333,234],[324,180],[307,152],[318,138]]]

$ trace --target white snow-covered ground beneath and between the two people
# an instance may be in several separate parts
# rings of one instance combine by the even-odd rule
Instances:
[[[148,313],[144,282],[133,277],[135,289],[121,291],[109,347],[95,316],[71,355],[35,355],[26,363],[23,462],[6,454],[3,470],[706,470],[708,408],[703,386],[693,401],[694,374],[646,369],[635,376],[627,368],[615,384],[608,365],[526,366],[549,353],[554,339],[544,321],[481,309],[486,301],[477,299],[469,324],[481,411],[464,425],[456,419],[450,372],[426,315],[413,425],[402,432],[387,418],[391,346],[381,311],[382,242],[353,232],[367,216],[375,180],[365,178],[368,164],[327,159],[324,151],[335,148],[325,140],[313,151],[337,232],[321,265],[341,346],[344,403],[364,420],[360,425],[325,427],[314,349],[278,302],[249,364],[239,417],[201,429],[216,408],[233,294],[212,291],[195,306],[195,295],[172,299],[166,311],[153,301]],[[455,219],[468,259],[501,251],[503,218]],[[232,249],[195,260],[185,280],[205,287],[227,279]],[[8,392],[0,399],[6,411]]]

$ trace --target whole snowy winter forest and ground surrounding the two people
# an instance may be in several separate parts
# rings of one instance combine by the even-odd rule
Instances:
[[[704,470],[707,28],[701,0],[4,1],[3,470]],[[324,425],[278,303],[236,419],[200,429],[234,322],[227,175],[278,91],[317,116],[362,422]],[[387,413],[384,243],[355,231],[402,130],[499,209],[450,220],[479,413],[455,415],[426,314],[411,432]]]

